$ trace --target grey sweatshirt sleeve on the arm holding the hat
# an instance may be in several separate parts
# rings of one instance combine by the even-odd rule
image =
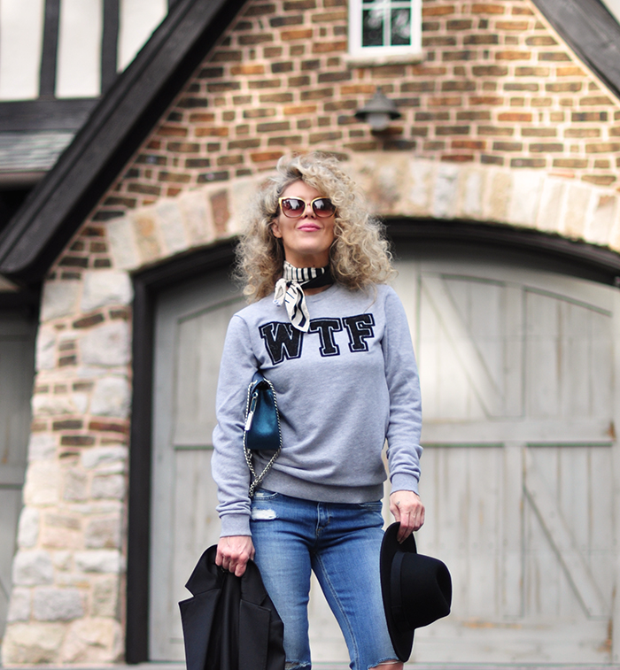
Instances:
[[[391,490],[418,492],[422,399],[407,315],[399,296],[389,289],[385,298],[385,379],[390,392],[387,429]]]

